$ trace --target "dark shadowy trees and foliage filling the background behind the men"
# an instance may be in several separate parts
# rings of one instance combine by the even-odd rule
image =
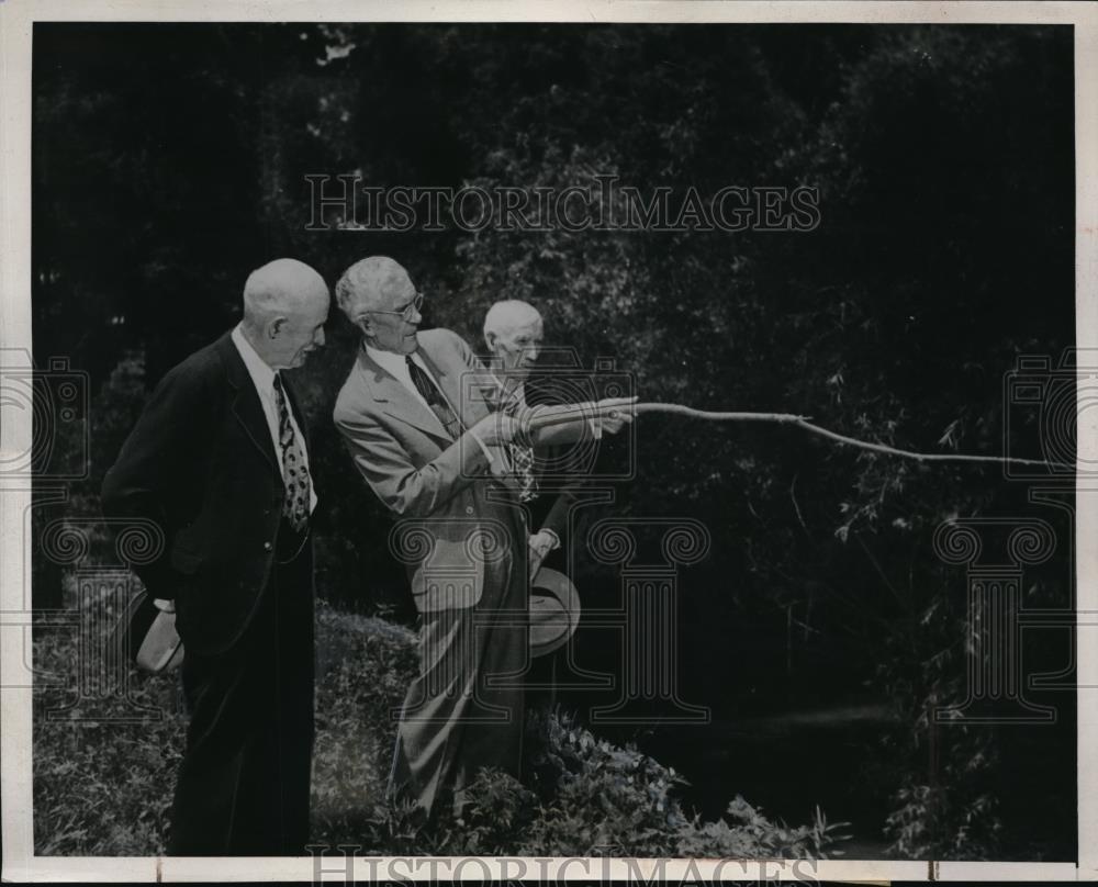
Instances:
[[[278,256],[334,283],[392,255],[429,294],[428,321],[470,341],[493,301],[528,299],[551,343],[589,364],[613,356],[642,400],[800,413],[917,450],[1018,452],[1005,374],[1074,344],[1068,27],[40,23],[34,53],[35,356],[91,378],[91,478],[69,508],[96,512],[145,391],[236,322],[245,277]],[[347,172],[379,187],[807,184],[821,224],[306,231],[304,177]],[[299,372],[324,501],[318,590],[408,618],[388,517],[329,420],[355,344],[334,310],[329,347]],[[707,786],[792,819],[819,801],[854,821],[855,856],[1074,857],[1073,694],[1033,696],[1055,725],[928,721],[964,698],[967,655],[964,571],[934,557],[934,529],[1050,520],[1061,544],[1027,573],[1024,605],[1066,607],[1065,513],[997,468],[775,428],[646,417],[635,458],[613,513],[694,517],[713,536],[681,575],[680,665],[715,722],[631,737],[686,773],[697,804]],[[613,606],[615,576],[589,560],[585,604]],[[581,658],[613,669],[608,643],[581,631]],[[1026,652],[1071,672],[1066,630],[1030,632]]]

